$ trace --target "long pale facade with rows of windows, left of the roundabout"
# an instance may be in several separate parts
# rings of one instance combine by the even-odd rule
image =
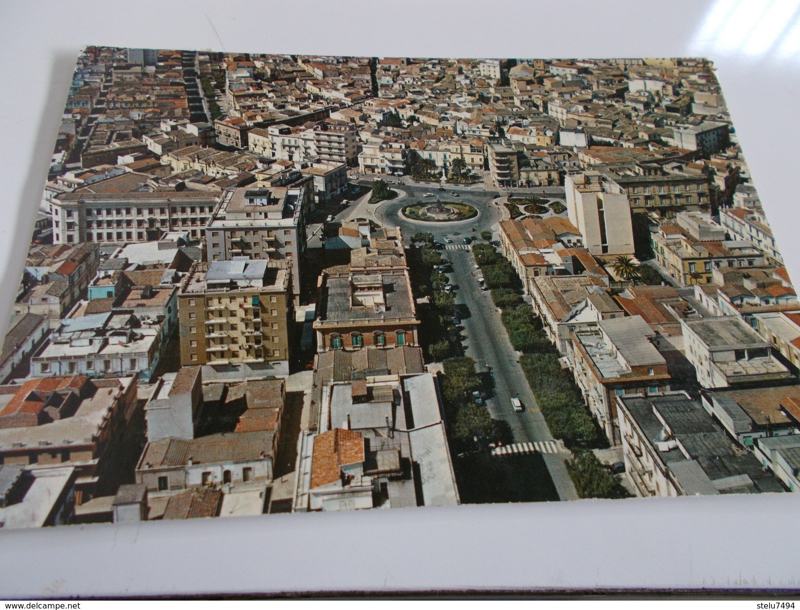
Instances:
[[[136,243],[186,231],[206,235],[218,197],[198,191],[66,193],[50,199],[53,243]]]

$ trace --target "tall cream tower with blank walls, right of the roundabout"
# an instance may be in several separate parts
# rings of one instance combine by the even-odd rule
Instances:
[[[634,230],[625,191],[600,172],[567,175],[566,209],[592,255],[633,255]]]

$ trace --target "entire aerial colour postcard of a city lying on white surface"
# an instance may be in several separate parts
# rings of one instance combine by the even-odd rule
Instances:
[[[800,491],[745,153],[700,58],[86,47],[0,528]]]

